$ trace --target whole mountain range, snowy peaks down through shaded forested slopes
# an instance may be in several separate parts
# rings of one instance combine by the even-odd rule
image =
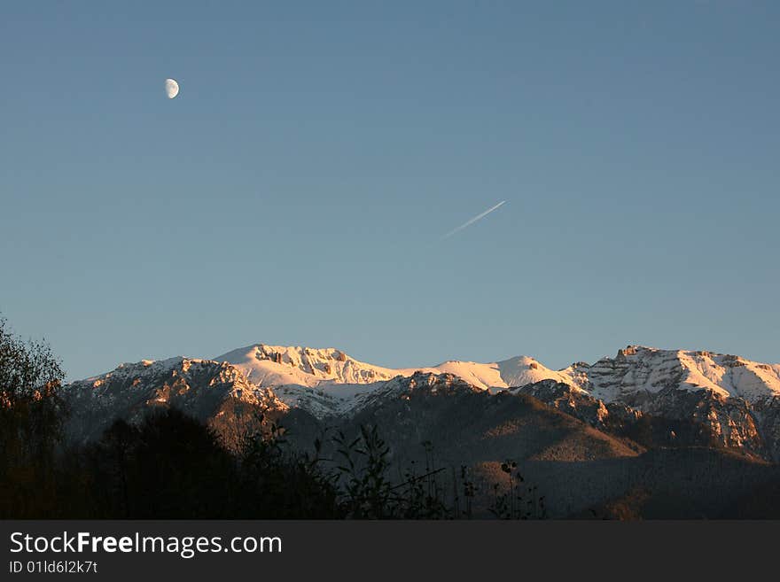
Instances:
[[[399,465],[429,462],[420,444],[433,443],[438,463],[487,484],[517,459],[557,516],[628,501],[653,516],[714,516],[780,477],[780,365],[706,351],[629,345],[559,370],[527,356],[389,369],[333,348],[256,344],[121,364],[63,393],[81,442],[176,407],[227,446],[258,423],[280,423],[300,448],[372,424]]]

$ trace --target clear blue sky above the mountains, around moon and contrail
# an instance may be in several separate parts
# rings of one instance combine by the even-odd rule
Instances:
[[[778,55],[776,2],[5,0],[0,312],[71,379],[777,362]]]

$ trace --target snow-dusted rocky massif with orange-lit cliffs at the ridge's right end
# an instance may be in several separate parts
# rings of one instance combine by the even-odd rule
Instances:
[[[567,384],[572,391],[605,403],[613,425],[626,423],[627,413],[637,419],[649,416],[645,423],[693,423],[698,431],[688,441],[706,444],[710,439],[711,444],[780,460],[780,366],[734,355],[628,346],[615,358],[576,364],[565,372],[572,377]],[[602,412],[599,423],[604,422]],[[630,418],[628,423],[636,425]],[[667,444],[673,445],[675,438],[681,442],[680,437],[670,428]]]

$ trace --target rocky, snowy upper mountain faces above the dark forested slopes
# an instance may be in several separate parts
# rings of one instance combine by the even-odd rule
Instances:
[[[421,386],[530,396],[640,446],[720,446],[780,460],[780,365],[642,346],[552,370],[527,356],[388,369],[332,348],[257,344],[214,360],[122,364],[70,384],[66,396],[74,411],[70,432],[84,440],[114,418],[167,406],[226,433],[253,425],[259,411],[266,420],[295,413],[317,425],[351,423],[412,398]],[[399,410],[396,422],[410,421]]]

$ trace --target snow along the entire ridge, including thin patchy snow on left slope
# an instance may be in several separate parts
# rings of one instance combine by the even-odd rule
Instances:
[[[642,407],[645,396],[665,389],[708,390],[719,397],[739,397],[757,404],[780,398],[780,365],[747,361],[738,356],[685,350],[660,350],[629,345],[614,357],[566,369],[548,369],[528,356],[479,363],[444,361],[431,367],[390,369],[357,361],[335,348],[254,344],[210,360],[170,358],[121,364],[102,376],[78,384],[98,388],[107,380],[129,378],[142,382],[160,372],[186,373],[196,364],[210,362],[220,369],[221,381],[246,386],[244,398],[269,390],[285,407],[302,407],[313,415],[349,414],[370,392],[381,391],[397,377],[417,372],[451,374],[481,390],[501,391],[542,380],[568,384],[605,402]],[[135,378],[135,380],[133,380]],[[135,384],[134,384],[135,385]],[[645,395],[645,396],[643,396]]]

